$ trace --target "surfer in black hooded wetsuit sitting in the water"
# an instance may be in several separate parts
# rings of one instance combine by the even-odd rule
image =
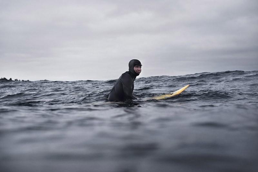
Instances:
[[[109,101],[126,101],[136,99],[133,96],[134,81],[142,71],[142,64],[139,60],[129,61],[129,71],[124,72],[116,81],[109,93]]]

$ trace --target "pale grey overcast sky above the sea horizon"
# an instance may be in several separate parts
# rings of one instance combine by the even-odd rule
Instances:
[[[258,70],[257,0],[0,0],[0,77],[111,80]]]

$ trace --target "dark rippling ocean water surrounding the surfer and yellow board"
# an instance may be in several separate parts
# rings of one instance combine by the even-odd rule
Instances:
[[[0,171],[258,171],[258,71],[139,78],[109,103],[114,83],[0,81]]]

